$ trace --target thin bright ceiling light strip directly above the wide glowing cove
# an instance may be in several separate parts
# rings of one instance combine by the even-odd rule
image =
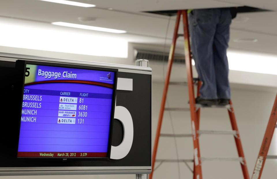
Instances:
[[[103,32],[126,33],[125,30],[108,29],[108,28],[103,28],[103,27],[94,27],[94,26],[89,26],[89,25],[72,24],[72,23],[65,23],[65,22],[53,22],[52,24],[66,26],[66,27],[75,27],[75,28],[80,28],[80,29],[103,31]]]

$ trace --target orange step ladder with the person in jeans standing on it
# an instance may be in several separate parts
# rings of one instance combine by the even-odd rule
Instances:
[[[167,66],[167,72],[166,72],[166,79],[164,82],[164,91],[162,96],[162,102],[160,107],[160,115],[158,120],[158,126],[156,131],[156,138],[154,143],[154,149],[153,149],[153,155],[152,155],[152,173],[149,175],[149,179],[152,179],[154,167],[155,167],[155,161],[156,161],[156,154],[157,154],[157,148],[158,148],[158,142],[160,137],[187,137],[184,136],[176,136],[176,135],[162,135],[160,134],[161,126],[162,126],[162,119],[163,114],[165,110],[165,102],[166,102],[166,95],[169,87],[169,79],[170,79],[170,73],[172,68],[172,63],[174,59],[174,51],[175,51],[175,44],[178,36],[181,36],[178,34],[178,27],[180,23],[181,15],[183,16],[183,25],[184,25],[184,44],[185,44],[185,61],[186,61],[186,71],[187,71],[187,79],[188,79],[188,92],[189,92],[189,104],[190,104],[190,115],[191,115],[191,126],[192,126],[192,135],[190,135],[193,139],[193,160],[157,160],[161,163],[163,162],[186,162],[192,161],[194,162],[194,169],[193,169],[193,179],[202,179],[202,169],[201,169],[201,163],[204,160],[204,158],[201,159],[200,156],[200,150],[199,150],[199,135],[200,134],[231,134],[234,135],[235,143],[237,147],[238,152],[238,158],[232,159],[232,158],[221,158],[223,160],[229,160],[229,161],[240,161],[242,173],[244,176],[244,179],[249,179],[248,169],[246,166],[246,161],[244,158],[244,153],[242,150],[242,143],[239,136],[239,131],[237,128],[237,123],[235,120],[235,113],[233,109],[232,102],[230,100],[230,104],[226,106],[212,106],[212,107],[223,107],[228,109],[230,121],[232,130],[231,131],[209,131],[209,130],[199,130],[199,119],[200,119],[200,108],[203,107],[201,105],[195,104],[195,95],[194,95],[194,79],[192,76],[192,65],[191,65],[191,54],[190,54],[190,42],[189,42],[189,31],[188,31],[188,15],[187,10],[178,10],[177,12],[177,18],[175,23],[175,30],[173,34],[171,49],[169,52],[169,59],[168,59],[168,66]],[[197,96],[199,96],[199,88],[201,86],[201,82],[198,81],[198,87],[197,87]],[[177,109],[181,110],[181,109]],[[218,160],[220,158],[205,158],[205,160]],[[161,164],[160,163],[160,164]],[[188,165],[187,165],[188,166]]]

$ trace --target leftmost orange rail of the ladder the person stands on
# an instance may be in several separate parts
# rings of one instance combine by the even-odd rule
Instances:
[[[149,179],[152,179],[153,172],[154,172],[157,148],[158,148],[161,126],[162,126],[162,118],[164,115],[166,95],[167,95],[167,91],[168,91],[171,68],[172,68],[172,63],[173,63],[173,59],[174,59],[175,45],[176,45],[176,40],[177,40],[177,36],[178,36],[180,17],[181,17],[181,11],[179,10],[177,12],[175,29],[174,29],[172,44],[171,44],[171,48],[170,48],[170,52],[169,52],[168,63],[167,63],[166,79],[164,81],[164,91],[163,91],[163,95],[162,95],[162,102],[161,102],[161,107],[160,107],[158,126],[157,126],[157,130],[156,130],[156,137],[155,137],[154,149],[153,149],[153,154],[152,154],[152,172],[151,172],[151,174],[149,174]]]

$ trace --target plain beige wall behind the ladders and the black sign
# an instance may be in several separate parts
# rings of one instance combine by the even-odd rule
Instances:
[[[0,46],[1,52],[19,53],[27,55],[38,55],[65,59],[79,59],[88,61],[99,61],[117,64],[134,65],[133,45],[129,43],[128,58],[98,57],[89,55],[77,55],[69,53],[39,51],[30,49],[19,49]],[[154,64],[153,64],[154,65]],[[151,66],[151,64],[150,64]],[[157,66],[158,67],[158,66]],[[160,74],[162,69],[155,67],[153,75]],[[161,67],[161,66],[160,66]],[[173,72],[174,74],[174,72]],[[184,72],[185,74],[185,72]],[[256,74],[259,76],[259,74]],[[261,74],[262,75],[262,74]],[[250,85],[232,84],[232,100],[239,131],[242,138],[242,144],[250,176],[254,169],[261,141],[272,109],[272,104],[276,96],[277,89],[274,87],[259,87]],[[154,143],[156,134],[156,125],[162,96],[163,83],[153,82],[153,110],[152,110],[152,143]],[[188,107],[188,90],[186,86],[170,86],[168,101],[170,107]],[[175,133],[191,133],[190,114],[188,112],[172,112],[173,127]],[[201,129],[207,130],[230,130],[230,122],[227,111],[224,109],[203,109],[201,111]],[[172,133],[172,127],[169,119],[169,113],[165,112],[162,125],[162,133]],[[152,146],[153,147],[153,146]],[[202,135],[200,138],[201,156],[215,157],[237,156],[235,143],[232,136],[227,135]],[[178,138],[177,149],[179,159],[192,159],[192,139]],[[274,136],[269,154],[277,154],[277,138]],[[161,138],[157,159],[176,159],[175,144],[171,138]],[[156,166],[158,163],[156,163]],[[192,165],[191,165],[192,166]],[[267,160],[262,178],[275,178],[277,176],[277,161]],[[203,163],[203,177],[205,179],[233,179],[242,178],[242,172],[238,162],[209,162]],[[180,163],[181,178],[191,178],[192,174],[184,165]],[[73,179],[73,178],[134,178],[134,175],[94,175],[94,176],[5,176],[2,178],[43,178],[43,179]],[[154,173],[154,178],[178,178],[177,163],[164,163]]]

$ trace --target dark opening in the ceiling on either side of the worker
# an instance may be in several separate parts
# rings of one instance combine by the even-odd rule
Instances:
[[[245,13],[245,12],[263,12],[263,11],[269,11],[265,9],[259,9],[259,8],[252,8],[249,6],[242,6],[237,8],[238,13]],[[176,16],[177,10],[169,10],[169,11],[146,11],[153,14],[160,14],[164,16]]]

